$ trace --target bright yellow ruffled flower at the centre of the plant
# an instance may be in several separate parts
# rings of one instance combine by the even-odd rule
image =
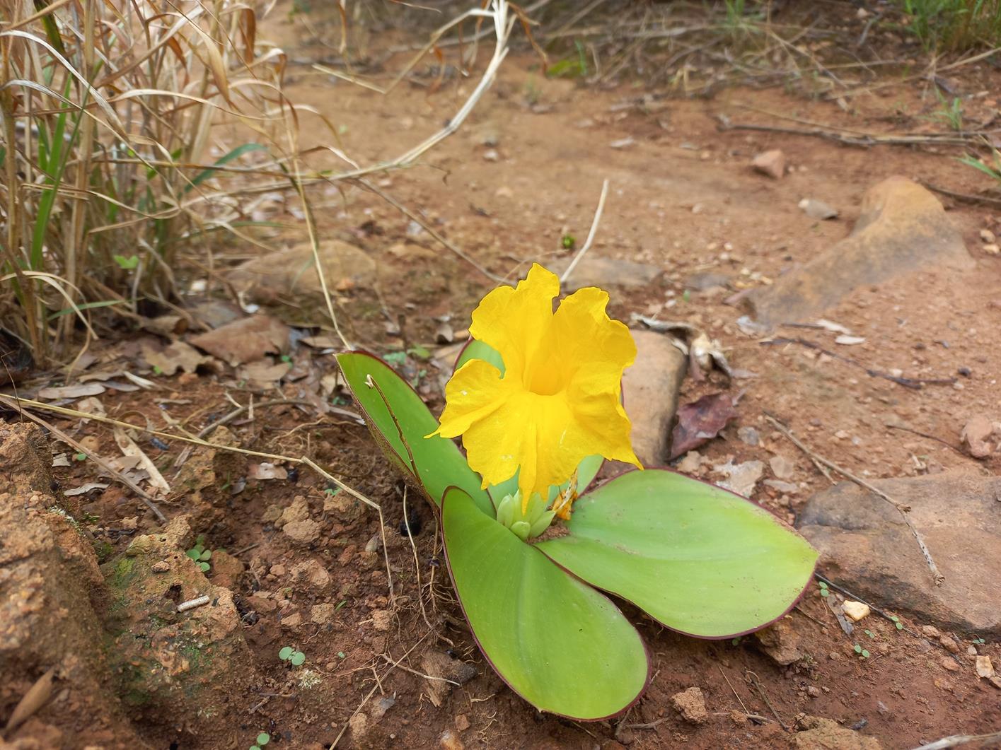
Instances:
[[[545,500],[587,456],[643,468],[620,400],[623,370],[636,359],[633,337],[609,318],[607,292],[580,289],[554,312],[559,294],[560,280],[537,263],[517,288],[483,297],[469,335],[500,354],[505,372],[479,359],[456,370],[433,433],[462,436],[483,487],[521,469],[523,505],[534,492]]]

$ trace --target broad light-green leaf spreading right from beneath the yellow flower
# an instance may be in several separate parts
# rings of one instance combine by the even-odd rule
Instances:
[[[666,625],[731,638],[785,614],[817,552],[764,508],[663,469],[623,474],[574,505],[570,534],[537,545]]]

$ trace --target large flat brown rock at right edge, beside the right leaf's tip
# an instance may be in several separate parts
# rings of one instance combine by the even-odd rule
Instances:
[[[1001,478],[941,473],[876,480],[911,506],[910,519],[945,582],[936,586],[914,537],[890,503],[849,482],[814,495],[797,526],[821,553],[821,568],[885,609],[939,627],[1001,635]]]

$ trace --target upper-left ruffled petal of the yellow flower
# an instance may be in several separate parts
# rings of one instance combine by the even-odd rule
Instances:
[[[517,287],[497,287],[483,297],[472,311],[469,335],[499,352],[506,374],[521,376],[549,330],[559,294],[557,275],[535,263]]]

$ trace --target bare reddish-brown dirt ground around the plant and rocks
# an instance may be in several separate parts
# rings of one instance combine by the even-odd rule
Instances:
[[[263,35],[293,61],[315,57],[316,45],[301,26],[286,19],[285,5],[278,3]],[[402,59],[390,59],[385,68],[392,70]],[[335,122],[343,150],[368,163],[402,152],[441,127],[468,95],[475,75],[446,78],[433,92],[404,83],[382,97],[293,63],[287,93]],[[949,80],[964,94],[984,92],[967,100],[969,120],[987,121],[992,112],[997,116],[1001,72],[970,65],[952,71]],[[518,52],[505,61],[498,80],[457,133],[419,166],[375,182],[478,264],[516,278],[532,261],[569,257],[572,251],[561,248],[564,235],[576,237],[580,246],[607,179],[610,192],[591,252],[664,270],[650,283],[612,286],[612,314],[626,321],[639,313],[697,325],[722,343],[732,366],[756,375],[734,381],[720,372],[703,382],[688,378],[681,401],[721,390],[743,393],[739,418],[700,451],[711,463],[732,457],[735,463],[760,459],[767,464],[776,454],[791,458],[799,491],[784,495],[761,486],[754,499],[793,521],[810,495],[829,482],[765,421],[766,410],[816,451],[862,477],[953,469],[995,474],[1001,465],[996,455],[978,461],[958,449],[969,418],[1001,418],[996,380],[1001,372],[1001,257],[986,254],[980,237],[982,229],[1001,234],[1001,209],[940,196],[975,269],[935,269],[860,288],[824,316],[865,337],[847,354],[866,367],[899,369],[916,378],[955,378],[954,384],[908,389],[802,346],[762,345],[759,336],[737,325],[743,310],[726,301],[735,292],[768,284],[845,237],[858,218],[863,193],[886,177],[904,175],[965,194],[985,187],[984,176],[959,164],[955,157],[961,150],[951,147],[860,147],[805,134],[720,127],[727,122],[805,130],[824,123],[880,134],[943,130],[930,119],[939,104],[927,82],[891,82],[895,85],[850,98],[846,108],[782,87],[734,86],[709,98],[644,99],[651,92],[640,82],[589,88],[551,79],[540,71],[534,54]],[[303,146],[319,134],[318,128],[305,126]],[[750,167],[755,154],[772,148],[781,148],[791,166],[779,180]],[[329,165],[337,164],[328,158]],[[840,214],[836,220],[811,219],[798,207],[803,198],[823,200]],[[365,289],[340,294],[341,320],[348,337],[361,347],[380,354],[414,344],[434,350],[440,316],[450,315],[456,331],[466,328],[476,300],[494,285],[371,193],[357,187],[342,193],[317,189],[316,201],[321,234],[349,239],[379,264],[377,296]],[[284,209],[276,210],[280,214]],[[287,211],[280,218],[291,222],[295,214]],[[279,231],[272,241],[281,239]],[[250,252],[234,249],[232,257]],[[707,290],[693,288],[702,286],[693,283],[694,277],[707,274],[716,275],[719,283]],[[292,300],[275,314],[289,323],[316,325],[323,322],[324,310]],[[834,347],[833,335],[823,331],[783,334]],[[293,357],[320,375],[335,369],[332,357],[318,350],[300,347]],[[450,362],[410,356],[397,364],[408,377],[419,377],[419,392],[433,411],[440,409],[439,375],[447,374]],[[257,389],[253,397],[258,402],[298,399],[302,388],[288,382]],[[157,426],[169,417],[197,432],[233,409],[227,394],[245,403],[252,390],[221,368],[197,377],[158,378],[154,390],[108,391],[101,399],[109,416],[145,417]],[[887,425],[894,418],[929,437],[891,429]],[[53,419],[77,440],[96,438],[97,454],[117,454],[110,429],[96,422]],[[747,426],[760,432],[759,445],[737,438],[738,429]],[[966,660],[972,646],[1001,664],[996,641],[974,644],[977,634],[954,634],[961,646],[955,661],[962,668],[953,671],[943,666],[944,658],[953,657],[921,635],[927,623],[903,617],[906,630],[898,632],[891,622],[872,616],[872,635],[866,637],[871,655],[861,658],[853,648],[858,637],[842,633],[817,589],[786,620],[807,654],[789,666],[763,653],[754,637],[699,641],[656,627],[627,607],[640,623],[653,660],[654,677],[643,700],[612,722],[581,724],[541,715],[484,663],[461,622],[440,564],[430,509],[410,508],[413,547],[400,532],[401,485],[363,426],[336,414],[317,416],[309,406],[281,404],[258,410],[253,419],[243,414],[227,427],[244,448],[314,458],[383,507],[394,600],[377,551],[375,514],[356,504],[334,507],[324,492],[328,486],[305,468],[287,466],[283,480],[246,479],[242,491],[232,494],[231,482],[242,479],[245,466],[237,462],[222,482],[216,465],[219,481],[199,487],[197,500],[175,491],[161,505],[169,517],[193,514],[192,535],[203,535],[206,548],[224,548],[242,563],[224,581],[217,580],[222,574],[218,569],[208,576],[233,593],[250,664],[232,668],[249,676],[242,692],[230,696],[224,720],[210,729],[195,728],[197,723],[184,716],[124,705],[145,747],[244,748],[259,732],[271,735],[269,748],[334,743],[345,748],[439,743],[582,750],[683,743],[697,748],[785,747],[792,736],[788,731],[802,715],[834,719],[886,748],[1001,729],[1001,690],[978,679]],[[164,444],[161,450],[148,438],[144,441],[143,448],[161,467],[174,465],[184,450],[179,443]],[[55,440],[52,448],[55,453],[69,451]],[[90,461],[52,469],[64,489],[95,481],[95,471]],[[305,499],[319,523],[320,534],[306,544],[276,527],[281,510],[296,497]],[[158,527],[134,495],[114,483],[72,503],[78,517],[92,519],[88,527],[102,562],[123,552],[136,535]],[[316,561],[328,575],[314,580],[311,568],[301,567],[308,561]],[[317,610],[317,605],[332,606]],[[284,646],[305,654],[315,682],[282,663],[278,652]],[[3,693],[0,715],[9,714],[42,671],[16,677]],[[441,689],[422,676],[429,671],[461,674],[462,684]],[[710,716],[703,724],[686,722],[672,705],[672,695],[693,686],[706,697]],[[364,721],[352,722],[359,715]],[[87,744],[75,739],[88,730],[86,715],[60,711],[56,703],[42,709],[39,718],[64,733],[51,746]],[[28,734],[30,725],[7,739]],[[136,746],[114,731],[111,735],[98,744]]]

